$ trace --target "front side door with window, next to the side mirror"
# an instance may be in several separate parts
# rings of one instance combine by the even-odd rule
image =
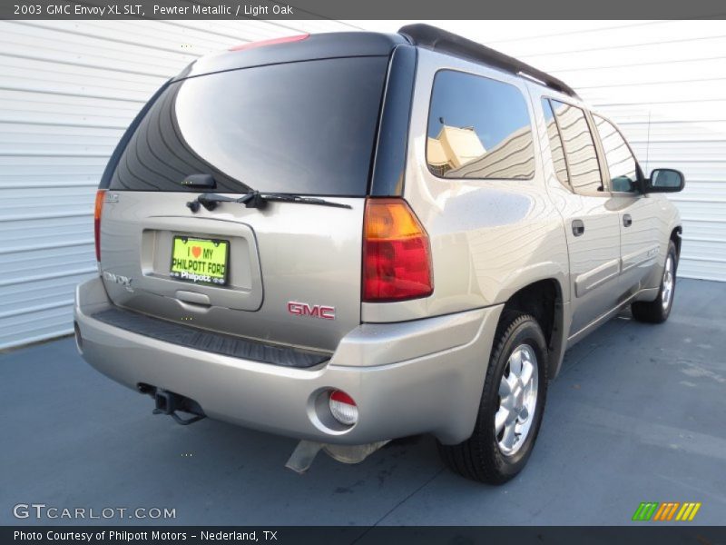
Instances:
[[[658,258],[658,203],[641,193],[643,173],[623,134],[603,117],[593,114],[607,163],[613,205],[620,214],[621,291],[637,292]]]

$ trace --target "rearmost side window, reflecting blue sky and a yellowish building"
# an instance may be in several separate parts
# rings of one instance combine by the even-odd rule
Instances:
[[[532,178],[532,124],[522,92],[479,75],[439,71],[428,111],[427,163],[446,178]]]

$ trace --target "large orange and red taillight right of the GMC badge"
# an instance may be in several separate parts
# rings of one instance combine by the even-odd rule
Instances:
[[[402,301],[434,291],[428,235],[403,199],[368,199],[363,301]]]

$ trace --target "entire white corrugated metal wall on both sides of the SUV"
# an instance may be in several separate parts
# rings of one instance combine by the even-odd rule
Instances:
[[[403,24],[403,23],[402,23]],[[613,117],[647,168],[681,169],[681,274],[726,281],[726,25],[442,23],[562,77]],[[144,101],[200,54],[397,23],[0,22],[0,349],[71,331],[93,274],[93,194]]]

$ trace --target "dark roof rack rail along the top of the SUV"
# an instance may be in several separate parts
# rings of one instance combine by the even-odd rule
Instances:
[[[441,53],[453,54],[478,63],[485,63],[512,74],[529,76],[547,87],[579,98],[574,89],[553,75],[546,74],[509,55],[499,53],[486,45],[477,44],[460,35],[431,25],[406,25],[398,30],[412,45],[419,45]]]

